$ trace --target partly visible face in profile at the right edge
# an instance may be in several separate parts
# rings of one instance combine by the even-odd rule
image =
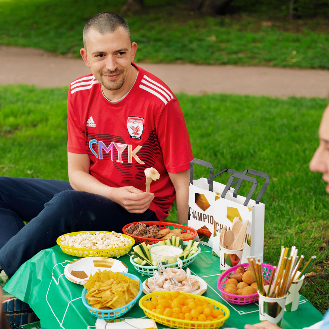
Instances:
[[[322,172],[322,179],[329,183],[329,106],[322,115],[319,139],[320,145],[310,162],[310,169],[315,172]],[[329,184],[326,186],[326,192],[329,193]]]

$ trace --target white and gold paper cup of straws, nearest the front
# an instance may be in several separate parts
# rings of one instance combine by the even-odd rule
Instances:
[[[269,286],[265,286],[267,292]],[[259,319],[260,321],[269,321],[281,326],[281,321],[283,319],[283,314],[285,310],[286,298],[287,295],[280,298],[270,298],[265,297],[258,292],[259,295]]]

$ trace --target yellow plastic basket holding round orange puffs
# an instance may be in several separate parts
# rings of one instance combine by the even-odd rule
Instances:
[[[217,329],[221,327],[230,316],[229,309],[225,305],[217,302],[216,300],[204,296],[194,295],[192,293],[186,293],[186,292],[181,292],[181,294],[188,295],[194,299],[199,298],[208,301],[209,304],[213,304],[215,306],[215,309],[221,310],[224,313],[224,317],[222,319],[218,319],[214,321],[181,320],[181,319],[175,319],[173,317],[159,315],[155,312],[148,310],[143,306],[143,302],[145,300],[150,300],[154,296],[164,295],[166,293],[168,293],[168,291],[159,291],[159,292],[152,292],[143,296],[142,298],[139,299],[139,307],[144,311],[146,316],[168,327],[178,328],[178,329]]]

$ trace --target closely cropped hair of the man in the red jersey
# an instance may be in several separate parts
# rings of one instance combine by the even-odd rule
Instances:
[[[83,45],[87,49],[87,36],[91,29],[100,34],[113,33],[118,27],[122,26],[128,33],[131,40],[131,34],[127,22],[119,15],[114,13],[99,13],[89,19],[83,29]]]

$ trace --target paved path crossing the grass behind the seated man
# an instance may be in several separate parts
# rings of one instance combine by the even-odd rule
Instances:
[[[82,59],[40,49],[0,46],[0,84],[67,86],[90,69]],[[234,93],[266,96],[329,97],[329,70],[262,66],[137,63],[175,93]]]

